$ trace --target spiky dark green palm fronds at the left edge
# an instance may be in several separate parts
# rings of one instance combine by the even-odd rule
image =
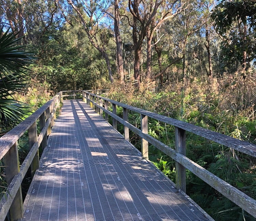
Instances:
[[[0,33],[3,32],[3,27]],[[21,51],[24,46],[18,46],[20,38],[9,33],[9,29],[0,37],[0,123],[14,125],[30,114],[29,107],[11,98],[14,92],[23,92],[25,64],[31,60],[28,52]]]

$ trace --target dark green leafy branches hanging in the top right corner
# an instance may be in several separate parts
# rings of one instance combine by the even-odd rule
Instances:
[[[256,56],[256,3],[250,0],[222,0],[213,10],[211,17],[215,28],[223,36],[221,43],[220,66],[222,71],[227,67],[231,72],[243,64],[247,70]],[[244,57],[244,52],[246,57]],[[245,67],[245,63],[246,67]]]

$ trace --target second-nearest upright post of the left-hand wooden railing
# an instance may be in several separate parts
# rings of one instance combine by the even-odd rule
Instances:
[[[35,142],[37,142],[37,123],[34,122],[30,128],[28,129],[28,142],[29,142],[29,149],[31,149]],[[34,156],[32,163],[30,165],[31,169],[31,178],[33,178],[35,171],[39,168],[39,153]]]

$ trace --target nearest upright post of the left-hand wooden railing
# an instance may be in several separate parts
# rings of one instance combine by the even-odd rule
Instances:
[[[19,173],[19,156],[17,142],[10,148],[4,156],[5,178],[8,185],[12,182],[13,177]],[[23,201],[21,186],[16,196],[12,196],[13,202],[10,207],[11,221],[21,220],[23,217]]]

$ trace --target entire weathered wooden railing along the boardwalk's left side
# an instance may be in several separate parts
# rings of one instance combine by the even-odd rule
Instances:
[[[31,177],[39,168],[39,152],[47,145],[47,136],[56,119],[56,109],[62,99],[59,92],[46,104],[40,107],[22,123],[0,138],[0,160],[4,158],[5,176],[8,188],[0,201],[0,220],[3,221],[10,211],[11,220],[20,220],[23,216],[23,200],[21,183],[30,167]],[[37,134],[37,120],[40,122],[41,133]],[[17,150],[18,139],[28,131],[30,151],[21,166]]]

